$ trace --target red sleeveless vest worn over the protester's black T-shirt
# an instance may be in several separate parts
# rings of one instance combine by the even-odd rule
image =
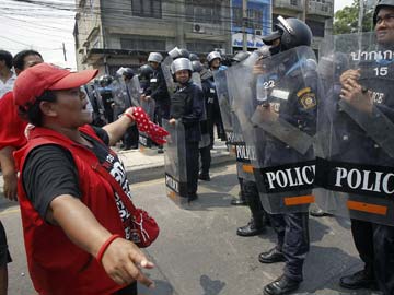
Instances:
[[[80,131],[101,141],[90,126],[80,128]],[[81,201],[109,233],[125,236],[113,189],[91,168],[99,160],[86,148],[46,128],[34,128],[30,138],[27,144],[14,153],[14,157],[20,172],[18,196],[28,271],[35,290],[42,295],[97,295],[123,288],[106,274],[94,257],[76,246],[61,227],[46,223],[38,215],[22,185],[21,172],[28,153],[43,144],[61,145],[71,152],[77,165]]]

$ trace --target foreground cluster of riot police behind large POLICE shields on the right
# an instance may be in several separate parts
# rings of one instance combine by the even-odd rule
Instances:
[[[252,164],[252,169],[240,166],[239,177],[245,180],[246,173],[246,181],[257,188],[262,210],[278,234],[276,247],[258,259],[286,262],[283,275],[264,293],[299,287],[309,251],[308,211],[316,203],[325,212],[351,217],[354,227],[363,221],[375,231],[361,240],[354,232],[354,238],[356,245],[373,244],[381,252],[372,258],[376,269],[364,261],[364,269],[343,276],[340,285],[378,285],[392,294],[393,266],[382,259],[393,255],[387,244],[394,232],[390,46],[382,48],[384,37],[375,33],[327,37],[321,66],[302,22],[279,17],[277,30],[266,38],[266,48],[213,72],[223,129],[234,139],[229,144],[235,145],[236,161]],[[340,82],[346,74],[350,78]],[[352,87],[358,88],[354,96],[348,94]],[[254,219],[267,216],[262,210],[258,215],[251,208],[246,233],[256,233],[254,223],[260,221]]]

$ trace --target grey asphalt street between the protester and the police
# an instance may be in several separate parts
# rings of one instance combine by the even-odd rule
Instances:
[[[158,240],[144,250],[155,263],[147,274],[157,288],[140,286],[140,295],[257,295],[281,274],[283,263],[262,264],[257,260],[259,252],[275,246],[271,228],[256,237],[235,235],[236,227],[248,222],[250,212],[245,206],[230,205],[239,192],[234,165],[213,168],[211,181],[199,182],[199,199],[185,208],[166,197],[164,179],[134,184],[131,191],[136,204],[148,210],[161,227]],[[18,205],[1,200],[0,219],[13,258],[9,294],[35,294]],[[349,221],[343,219],[310,219],[311,250],[304,282],[294,294],[379,294],[338,285],[341,275],[361,268],[349,227]]]

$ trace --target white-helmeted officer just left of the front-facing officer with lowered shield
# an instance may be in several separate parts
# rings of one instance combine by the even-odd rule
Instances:
[[[142,99],[154,99],[155,111],[154,122],[162,125],[162,118],[169,119],[170,116],[170,94],[161,68],[163,56],[159,52],[151,52],[148,57],[148,62],[153,69],[152,76],[149,82],[149,88],[146,94],[141,96]],[[160,145],[158,153],[163,153],[163,146]]]

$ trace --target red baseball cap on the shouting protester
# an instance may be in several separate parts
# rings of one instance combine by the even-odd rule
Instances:
[[[18,75],[13,97],[18,106],[33,104],[46,90],[69,90],[82,86],[91,81],[99,70],[70,72],[50,63],[38,63]]]

